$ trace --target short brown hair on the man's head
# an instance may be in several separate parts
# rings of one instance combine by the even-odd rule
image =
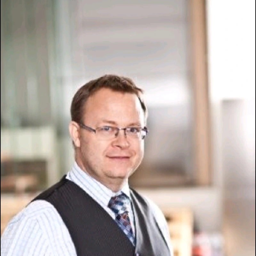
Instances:
[[[77,123],[82,122],[84,115],[84,104],[87,99],[92,96],[95,92],[99,91],[101,88],[108,88],[115,92],[127,92],[131,94],[136,94],[140,100],[141,108],[143,109],[145,119],[147,117],[147,107],[141,98],[143,90],[137,87],[132,79],[124,76],[117,75],[105,75],[100,78],[89,81],[84,84],[73,97],[71,103],[71,120]]]

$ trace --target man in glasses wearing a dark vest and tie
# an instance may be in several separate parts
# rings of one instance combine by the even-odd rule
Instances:
[[[129,188],[147,135],[142,90],[106,75],[71,104],[75,164],[7,226],[1,255],[170,256],[162,212]]]

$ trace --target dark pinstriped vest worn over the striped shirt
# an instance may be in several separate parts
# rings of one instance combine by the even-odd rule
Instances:
[[[65,176],[33,201],[51,203],[68,228],[78,256],[170,256],[168,246],[143,197],[131,190],[136,229],[134,247],[115,220]]]

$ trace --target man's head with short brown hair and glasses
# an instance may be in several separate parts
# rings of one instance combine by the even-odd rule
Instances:
[[[76,162],[113,191],[143,158],[147,108],[141,93],[131,79],[106,75],[82,86],[72,100]]]

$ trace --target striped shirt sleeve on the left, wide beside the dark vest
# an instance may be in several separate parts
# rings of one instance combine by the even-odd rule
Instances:
[[[1,237],[1,256],[76,255],[59,213],[43,200],[29,204],[7,225]]]

